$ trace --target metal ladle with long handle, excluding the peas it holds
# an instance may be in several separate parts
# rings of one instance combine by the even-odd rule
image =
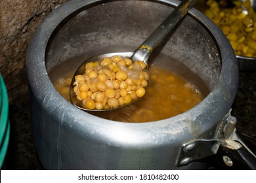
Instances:
[[[92,58],[87,59],[84,61],[77,71],[75,71],[75,74],[72,78],[72,82],[70,85],[70,100],[75,105],[75,107],[80,108],[82,110],[91,110],[91,111],[104,111],[104,110],[114,110],[120,107],[125,107],[125,105],[122,105],[117,108],[108,108],[108,109],[89,109],[84,108],[82,101],[79,101],[75,95],[74,92],[74,86],[73,83],[75,81],[75,76],[77,75],[83,75],[85,73],[85,65],[89,62],[95,62],[95,61],[101,61],[102,59],[106,57],[112,57],[112,56],[121,56],[122,58],[131,58],[131,60],[136,61],[144,61],[146,63],[146,66],[148,68],[148,58],[150,57],[150,54],[152,51],[161,44],[163,39],[167,36],[167,34],[182,20],[182,18],[187,14],[188,10],[192,8],[196,4],[197,0],[183,0],[179,4],[177,8],[175,8],[165,20],[155,29],[155,31],[144,41],[142,44],[140,44],[139,48],[135,50],[135,52],[118,52],[118,53],[108,53],[108,54],[101,54],[98,56],[94,56]],[[139,98],[138,98],[139,99]],[[135,102],[137,100],[134,100]],[[133,103],[132,102],[132,103]],[[128,105],[130,105],[129,103]]]

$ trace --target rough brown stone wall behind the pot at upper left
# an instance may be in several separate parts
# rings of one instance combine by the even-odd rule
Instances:
[[[26,50],[37,25],[54,8],[68,0],[0,1],[0,73],[9,100],[28,92]]]

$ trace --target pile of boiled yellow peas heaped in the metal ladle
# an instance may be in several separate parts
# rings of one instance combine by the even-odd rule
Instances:
[[[85,74],[75,76],[74,92],[88,109],[128,105],[142,97],[148,86],[146,63],[114,56],[85,65]]]

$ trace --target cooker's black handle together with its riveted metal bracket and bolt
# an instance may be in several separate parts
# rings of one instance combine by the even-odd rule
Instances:
[[[256,169],[255,152],[236,131],[236,122],[236,117],[229,112],[221,123],[223,127],[218,129],[222,131],[221,138],[196,139],[182,144],[177,166],[214,155],[215,162],[223,169]]]

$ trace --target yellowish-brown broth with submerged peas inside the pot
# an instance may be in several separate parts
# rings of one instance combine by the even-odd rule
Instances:
[[[148,90],[139,101],[116,110],[89,113],[117,122],[152,122],[186,112],[202,101],[203,95],[198,88],[181,76],[156,65],[149,71]],[[54,82],[56,90],[68,101],[73,74],[70,72]]]

